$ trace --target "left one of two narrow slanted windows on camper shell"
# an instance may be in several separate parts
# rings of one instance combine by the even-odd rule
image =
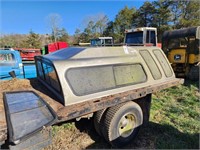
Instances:
[[[158,69],[158,66],[156,65],[155,61],[153,60],[151,54],[147,50],[140,51],[140,54],[142,58],[144,59],[146,65],[148,66],[153,78],[155,80],[158,80],[161,78],[160,70]]]

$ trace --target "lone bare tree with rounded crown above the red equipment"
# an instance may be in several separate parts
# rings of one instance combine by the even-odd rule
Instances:
[[[52,40],[56,42],[58,38],[59,27],[62,23],[62,18],[59,14],[53,13],[47,16],[46,21],[52,32]]]

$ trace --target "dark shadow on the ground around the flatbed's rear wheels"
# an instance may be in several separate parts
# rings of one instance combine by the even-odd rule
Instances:
[[[93,127],[93,120],[82,119],[75,123],[80,132],[86,132],[95,141],[86,149],[113,149]],[[149,122],[138,136],[124,149],[199,149],[199,133],[182,133],[170,125]]]

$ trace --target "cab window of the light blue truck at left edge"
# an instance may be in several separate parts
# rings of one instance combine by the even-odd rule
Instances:
[[[0,65],[1,66],[14,66],[15,57],[13,54],[0,54]]]

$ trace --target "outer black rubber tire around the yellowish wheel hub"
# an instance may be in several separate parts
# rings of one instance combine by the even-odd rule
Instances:
[[[126,114],[134,116],[135,127],[132,128],[130,135],[123,137],[120,135],[119,127],[120,121]],[[128,144],[135,138],[139,132],[141,124],[143,123],[143,113],[140,106],[135,102],[127,102],[108,108],[104,113],[103,126],[101,132],[104,138],[113,146],[120,148]]]

